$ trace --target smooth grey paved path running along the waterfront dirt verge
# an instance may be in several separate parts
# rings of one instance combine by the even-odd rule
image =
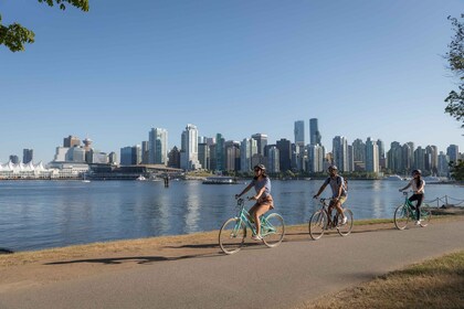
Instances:
[[[0,292],[0,308],[293,308],[464,249],[464,223],[251,245],[238,254],[140,267]],[[53,266],[51,266],[53,267]]]

